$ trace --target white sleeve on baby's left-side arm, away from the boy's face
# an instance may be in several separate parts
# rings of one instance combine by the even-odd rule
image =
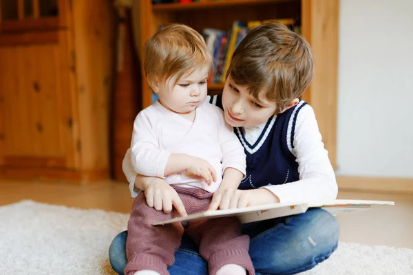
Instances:
[[[134,122],[131,140],[131,165],[140,175],[164,177],[165,167],[170,153],[159,148],[153,125],[156,124],[156,112],[141,111]],[[151,123],[149,120],[154,119]]]

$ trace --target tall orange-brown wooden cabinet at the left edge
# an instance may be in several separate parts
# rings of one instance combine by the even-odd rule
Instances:
[[[0,4],[0,177],[107,177],[111,1]]]

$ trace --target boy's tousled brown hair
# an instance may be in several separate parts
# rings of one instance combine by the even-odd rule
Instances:
[[[264,23],[241,41],[226,77],[248,87],[255,98],[264,91],[281,113],[304,93],[313,74],[313,52],[304,38],[281,23]]]

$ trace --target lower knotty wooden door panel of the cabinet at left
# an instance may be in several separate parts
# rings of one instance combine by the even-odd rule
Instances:
[[[61,54],[59,43],[0,47],[2,166],[74,166],[74,119]]]

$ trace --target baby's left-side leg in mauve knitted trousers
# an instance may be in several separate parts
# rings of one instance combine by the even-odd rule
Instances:
[[[126,241],[127,265],[125,275],[136,272],[156,272],[167,275],[167,267],[175,261],[173,254],[178,250],[184,228],[179,223],[153,226],[156,221],[171,219],[173,212],[165,214],[147,206],[141,192],[132,206]],[[138,273],[144,275],[148,273]]]

